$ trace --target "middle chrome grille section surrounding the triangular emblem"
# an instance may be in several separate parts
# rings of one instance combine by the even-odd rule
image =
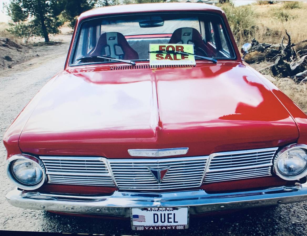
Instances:
[[[199,187],[207,157],[108,160],[119,189],[157,190]],[[170,167],[161,184],[148,170]]]

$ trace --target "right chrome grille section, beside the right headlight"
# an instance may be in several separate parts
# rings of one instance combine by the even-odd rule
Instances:
[[[271,175],[278,148],[263,148],[210,155],[204,182],[220,182]]]

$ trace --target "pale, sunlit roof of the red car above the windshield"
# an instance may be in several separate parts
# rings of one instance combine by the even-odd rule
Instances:
[[[122,14],[122,13],[140,13],[140,12],[163,12],[163,11],[203,11],[211,10],[215,12],[222,12],[216,6],[204,3],[190,3],[190,2],[169,2],[169,3],[146,3],[146,4],[129,4],[118,6],[107,6],[91,9],[82,13],[79,21],[88,17],[95,17],[100,15],[109,14]]]

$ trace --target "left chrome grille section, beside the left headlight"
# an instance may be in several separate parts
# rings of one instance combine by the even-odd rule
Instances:
[[[40,156],[40,159],[49,183],[115,186],[105,158]]]

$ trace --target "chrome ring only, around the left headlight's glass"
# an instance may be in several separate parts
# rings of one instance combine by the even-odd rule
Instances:
[[[11,167],[12,167],[12,164],[14,163],[14,161],[19,160],[19,159],[31,161],[39,167],[39,169],[42,172],[42,179],[41,179],[40,182],[38,182],[37,184],[34,184],[34,185],[25,185],[25,184],[22,184],[21,182],[19,182],[14,177],[14,174],[12,173]],[[6,160],[5,171],[6,171],[7,177],[10,179],[10,181],[13,182],[17,187],[24,189],[24,190],[38,189],[46,181],[46,171],[45,171],[45,166],[44,166],[43,162],[40,159],[36,158],[35,156],[31,156],[31,155],[28,155],[28,154],[17,154],[17,155],[11,156],[9,159]]]

